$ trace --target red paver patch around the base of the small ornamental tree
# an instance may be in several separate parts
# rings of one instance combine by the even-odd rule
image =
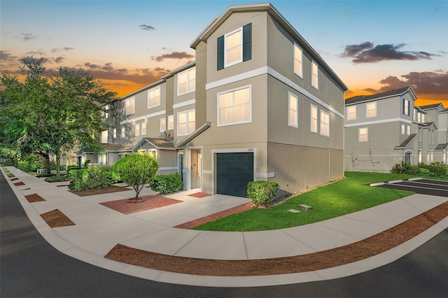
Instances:
[[[141,199],[144,199],[144,201],[139,204],[127,203],[128,199],[106,201],[100,204],[123,214],[131,214],[183,202],[179,199],[169,199],[158,195],[144,196]]]

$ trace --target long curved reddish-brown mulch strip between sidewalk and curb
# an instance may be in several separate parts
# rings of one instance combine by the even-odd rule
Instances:
[[[370,238],[318,253],[265,260],[206,260],[151,253],[118,244],[105,257],[162,271],[207,276],[292,274],[336,267],[372,257],[412,239],[448,215],[448,202]]]

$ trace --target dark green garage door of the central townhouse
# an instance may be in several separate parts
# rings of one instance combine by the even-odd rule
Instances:
[[[247,197],[253,181],[253,152],[216,154],[216,193]]]

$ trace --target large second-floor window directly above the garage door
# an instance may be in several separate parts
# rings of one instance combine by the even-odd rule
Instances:
[[[218,93],[218,126],[251,122],[251,87]]]

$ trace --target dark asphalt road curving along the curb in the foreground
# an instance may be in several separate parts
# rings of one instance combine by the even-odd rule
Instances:
[[[363,274],[258,288],[158,283],[59,253],[31,224],[0,174],[0,297],[447,297],[448,229],[412,253]]]

